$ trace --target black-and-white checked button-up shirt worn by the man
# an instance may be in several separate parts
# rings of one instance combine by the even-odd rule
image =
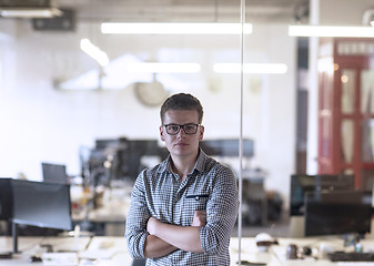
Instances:
[[[149,258],[146,265],[230,265],[230,234],[237,215],[237,187],[233,172],[202,150],[193,171],[181,182],[171,171],[171,157],[144,170],[134,184],[125,225],[125,238],[134,258],[144,257],[146,222],[190,226],[196,209],[206,211],[206,225],[200,227],[203,254],[176,249],[166,256]]]

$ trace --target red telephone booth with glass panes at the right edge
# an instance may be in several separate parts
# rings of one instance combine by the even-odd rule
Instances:
[[[319,55],[319,172],[374,182],[374,40],[322,39]]]

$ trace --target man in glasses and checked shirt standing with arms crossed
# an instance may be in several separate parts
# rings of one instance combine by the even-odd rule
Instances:
[[[125,228],[129,252],[148,258],[146,265],[230,265],[236,181],[199,147],[203,108],[179,93],[165,100],[160,116],[170,155],[135,181]]]

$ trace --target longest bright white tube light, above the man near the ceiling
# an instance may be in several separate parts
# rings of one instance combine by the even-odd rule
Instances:
[[[107,34],[240,34],[241,23],[101,23]],[[245,23],[244,34],[252,33],[252,24]]]

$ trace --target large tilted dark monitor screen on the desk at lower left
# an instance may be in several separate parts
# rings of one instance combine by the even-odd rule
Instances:
[[[55,229],[72,228],[70,185],[13,180],[12,191],[13,223]]]

